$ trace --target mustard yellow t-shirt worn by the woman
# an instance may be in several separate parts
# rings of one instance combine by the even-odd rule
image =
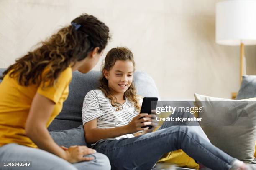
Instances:
[[[8,74],[5,75],[0,83],[0,146],[8,143],[17,143],[37,148],[35,143],[25,135],[26,119],[33,97],[36,93],[39,93],[55,103],[53,112],[46,124],[46,127],[48,127],[61,112],[62,104],[69,93],[71,79],[71,67],[61,73],[54,86],[44,87],[44,89],[42,89],[42,83],[39,87],[36,85],[25,87],[19,85]]]

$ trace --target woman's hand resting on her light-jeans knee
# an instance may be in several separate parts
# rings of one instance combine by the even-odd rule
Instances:
[[[61,146],[63,150],[66,152],[66,158],[70,163],[77,163],[81,161],[93,160],[94,157],[84,157],[84,155],[89,155],[96,153],[96,150],[87,148],[87,146],[70,146],[69,148]]]

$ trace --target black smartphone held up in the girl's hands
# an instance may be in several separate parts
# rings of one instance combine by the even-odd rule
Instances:
[[[157,100],[158,100],[157,97],[144,97],[141,105],[141,113],[151,114],[151,110],[156,109]],[[142,118],[143,117],[141,117],[140,119]],[[141,128],[146,128],[146,127],[149,127],[149,129],[152,128],[151,125],[142,126]]]

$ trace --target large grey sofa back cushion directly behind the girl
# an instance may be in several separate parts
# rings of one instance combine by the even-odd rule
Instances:
[[[84,97],[90,90],[99,87],[100,71],[90,71],[82,74],[73,72],[72,82],[69,85],[69,96],[63,104],[61,113],[49,126],[49,130],[65,130],[82,125],[82,105]],[[159,97],[154,80],[144,72],[134,73],[134,84],[141,96]]]

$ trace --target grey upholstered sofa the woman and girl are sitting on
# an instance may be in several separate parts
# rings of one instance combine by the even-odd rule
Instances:
[[[5,69],[0,69],[0,75],[4,70]],[[87,145],[85,143],[84,130],[82,127],[82,103],[87,92],[99,86],[99,77],[99,71],[91,71],[87,74],[81,74],[77,71],[73,72],[72,82],[69,85],[69,96],[64,102],[61,113],[48,128],[52,138],[58,145],[66,147],[71,145]],[[244,80],[238,92],[238,98],[256,97],[256,76],[243,78]],[[154,80],[146,73],[135,72],[134,83],[139,95],[159,97],[159,92]],[[247,92],[246,89],[248,89],[248,87],[253,89]],[[177,169],[182,170],[187,168]]]

